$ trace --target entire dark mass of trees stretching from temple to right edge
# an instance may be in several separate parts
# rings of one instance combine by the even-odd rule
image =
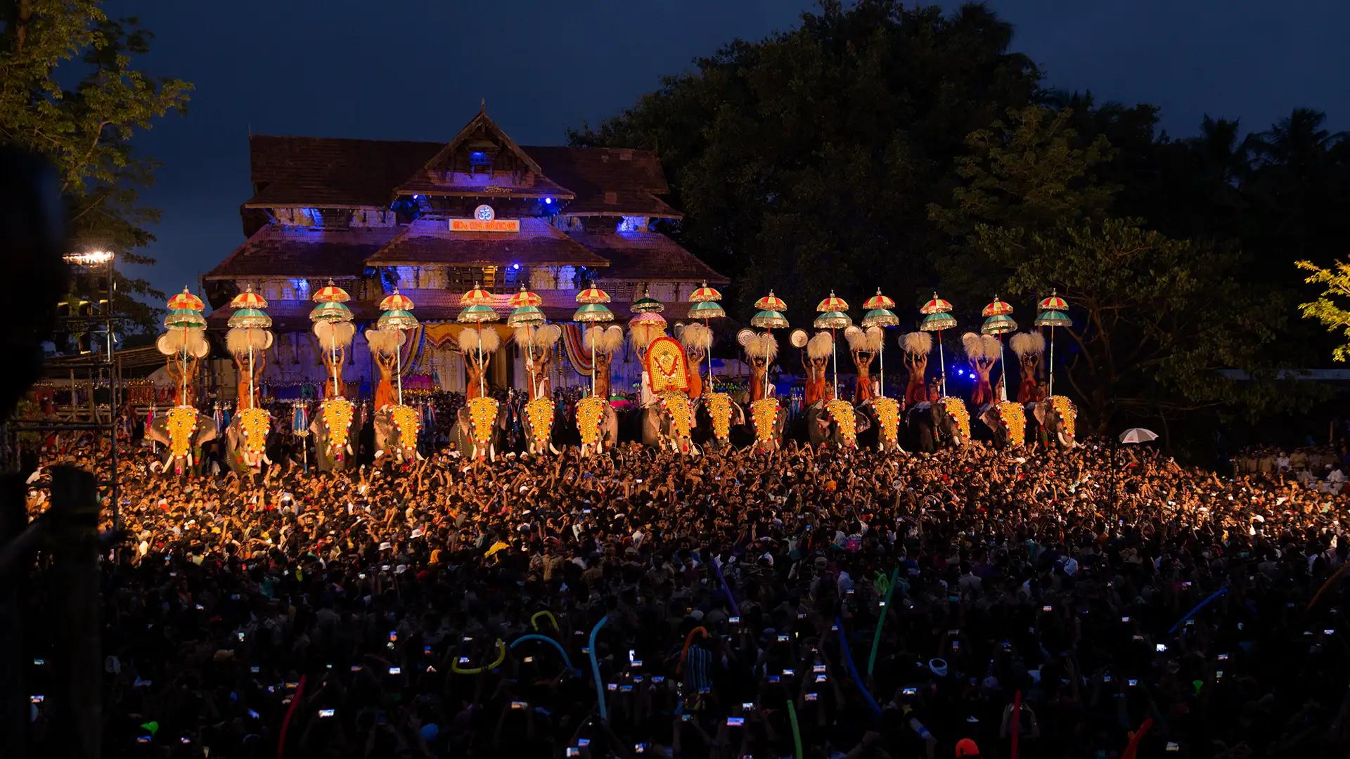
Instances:
[[[805,327],[829,289],[859,307],[882,286],[907,330],[940,288],[963,330],[996,293],[1030,328],[1071,293],[1057,359],[1089,424],[1276,412],[1300,394],[1216,370],[1269,378],[1334,346],[1291,319],[1311,296],[1295,261],[1350,239],[1350,142],[1320,112],[1172,138],[1153,105],[1042,88],[983,5],[824,1],[571,138],[660,153],[687,215],[671,234],[733,278],[742,321],[770,288]]]

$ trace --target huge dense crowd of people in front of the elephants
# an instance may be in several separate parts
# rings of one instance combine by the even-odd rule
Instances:
[[[1350,592],[1318,594],[1347,558],[1346,497],[1281,471],[1094,442],[790,443],[174,477],[124,444],[108,756],[1343,756],[1350,739]],[[45,463],[107,458],[82,440]],[[54,600],[28,602],[40,620]],[[59,654],[28,646],[40,682]]]

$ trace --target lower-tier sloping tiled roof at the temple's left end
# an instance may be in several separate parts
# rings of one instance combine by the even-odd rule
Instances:
[[[366,258],[385,247],[393,227],[306,230],[267,224],[207,273],[207,280],[240,277],[358,277]]]

